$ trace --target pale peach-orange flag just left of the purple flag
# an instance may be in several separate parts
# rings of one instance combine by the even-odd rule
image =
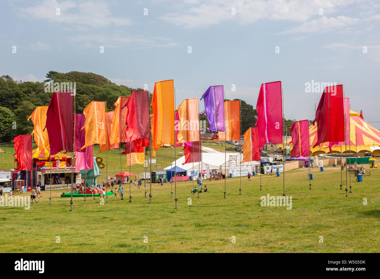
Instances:
[[[177,110],[179,115],[179,121],[176,121],[177,143],[197,142],[199,140],[198,98],[184,99]]]

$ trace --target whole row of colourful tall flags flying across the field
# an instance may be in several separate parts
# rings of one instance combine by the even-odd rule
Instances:
[[[100,152],[104,152],[126,143],[123,154],[130,154],[127,166],[142,164],[144,147],[150,146],[150,132],[153,156],[158,147],[183,146],[185,163],[201,161],[201,154],[195,154],[201,153],[198,98],[185,99],[175,108],[173,79],[155,83],[150,115],[147,90],[136,90],[129,97],[119,97],[114,104],[115,110],[110,112],[106,112],[105,102],[92,101],[82,114],[74,115],[73,99],[70,92],[56,91],[49,106],[37,107],[30,118],[38,148],[48,148],[51,154],[63,150],[74,152],[76,170],[93,167],[93,144],[99,144]],[[218,133],[220,140],[241,139],[240,101],[225,101],[223,85],[210,86],[200,100],[204,101],[210,130]],[[242,162],[260,160],[261,147],[268,142],[283,142],[282,81],[261,84],[256,111],[257,127],[244,133]],[[343,86],[326,87],[314,120],[318,125],[318,144],[336,144],[345,140],[341,125],[344,113],[349,113],[349,104],[344,103]],[[291,126],[292,157],[309,155],[308,127],[308,120],[296,121]],[[32,146],[31,140],[31,135],[14,138],[20,170],[31,169],[25,163],[29,159],[27,145]]]

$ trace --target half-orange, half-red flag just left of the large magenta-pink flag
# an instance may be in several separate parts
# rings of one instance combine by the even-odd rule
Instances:
[[[259,128],[251,127],[244,133],[243,161],[260,161]]]

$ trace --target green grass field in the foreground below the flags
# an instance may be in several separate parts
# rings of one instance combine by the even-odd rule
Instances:
[[[2,252],[379,252],[380,170],[362,183],[352,176],[348,197],[339,190],[339,168],[312,172],[312,190],[307,169],[285,173],[291,210],[260,206],[261,196],[282,195],[283,177],[274,176],[262,177],[262,191],[260,176],[242,178],[242,195],[239,178],[229,178],[226,199],[224,181],[205,181],[209,193],[199,199],[191,181],[179,182],[177,209],[169,184],[152,186],[152,204],[137,188],[130,204],[125,186],[124,200],[74,198],[72,212],[62,190],[52,192],[52,205],[43,192],[30,210],[0,208]]]

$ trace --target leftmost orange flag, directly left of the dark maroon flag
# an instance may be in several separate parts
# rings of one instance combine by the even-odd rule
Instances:
[[[44,150],[45,148],[50,149],[49,145],[49,137],[47,136],[47,129],[43,130],[46,126],[46,107],[36,107],[33,111],[32,115],[28,118],[32,118],[34,124],[34,130],[32,135],[34,134],[34,140],[37,143],[38,150]]]

